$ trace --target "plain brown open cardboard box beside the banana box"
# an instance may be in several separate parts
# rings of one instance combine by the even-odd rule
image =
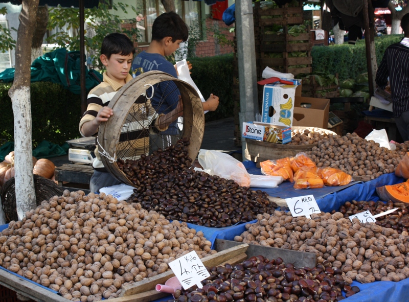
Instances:
[[[329,99],[296,97],[292,126],[328,128]]]

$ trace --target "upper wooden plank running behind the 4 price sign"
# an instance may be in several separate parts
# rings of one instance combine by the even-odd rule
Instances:
[[[219,265],[220,263],[223,263],[229,259],[236,257],[237,255],[242,254],[243,252],[245,252],[247,248],[248,248],[248,244],[237,245],[232,248],[228,248],[218,253],[215,253],[213,255],[210,255],[208,257],[205,257],[201,261],[206,266],[209,266],[209,267],[216,266],[216,265]],[[130,285],[123,286],[122,291],[121,291],[121,296],[130,296],[130,295],[139,294],[142,292],[153,290],[155,289],[157,284],[165,284],[165,282],[173,276],[174,274],[170,270],[165,273],[158,274],[150,278],[146,278],[145,280],[142,280],[140,282],[136,282]],[[113,301],[115,300],[112,300],[112,302]]]

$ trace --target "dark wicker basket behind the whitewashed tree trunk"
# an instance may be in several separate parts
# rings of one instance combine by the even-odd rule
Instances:
[[[34,174],[34,189],[37,205],[40,205],[41,201],[49,200],[55,195],[61,196],[64,192],[64,189],[59,187],[53,180],[38,176],[36,174]],[[14,177],[10,178],[3,185],[0,190],[0,197],[7,223],[12,220],[17,221],[18,217],[16,210]],[[2,302],[2,300],[0,300],[0,302]]]

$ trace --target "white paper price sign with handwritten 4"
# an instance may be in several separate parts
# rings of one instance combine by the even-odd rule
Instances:
[[[210,276],[210,273],[195,251],[191,251],[172,261],[169,263],[169,267],[185,290],[195,284],[198,288],[202,288],[200,282]]]

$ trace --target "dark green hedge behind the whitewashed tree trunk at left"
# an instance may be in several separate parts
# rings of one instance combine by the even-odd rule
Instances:
[[[14,140],[14,117],[8,90],[11,83],[0,83],[0,141]],[[46,140],[62,145],[80,136],[81,100],[59,84],[31,83],[31,117],[33,147]],[[1,144],[0,144],[1,145]]]

